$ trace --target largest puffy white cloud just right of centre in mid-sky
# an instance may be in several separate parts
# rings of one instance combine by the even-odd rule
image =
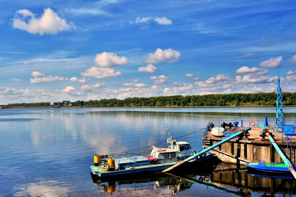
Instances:
[[[154,53],[149,53],[146,58],[146,63],[158,63],[158,62],[177,62],[180,59],[180,52],[169,49],[156,49]]]

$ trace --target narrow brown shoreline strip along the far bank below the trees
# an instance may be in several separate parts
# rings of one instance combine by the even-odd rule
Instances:
[[[285,105],[284,107],[293,107],[296,105]],[[180,108],[180,107],[276,107],[273,105],[241,105],[241,106],[140,106],[140,107],[77,107],[77,106],[62,106],[61,108]],[[55,106],[3,106],[0,105],[0,109],[41,109],[41,108],[56,108]],[[60,108],[58,108],[60,109]]]

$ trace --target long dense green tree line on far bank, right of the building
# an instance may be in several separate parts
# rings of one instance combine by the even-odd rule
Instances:
[[[283,92],[283,105],[296,105],[296,92]],[[59,102],[61,103],[61,102]],[[55,104],[55,103],[54,103]],[[81,107],[152,107],[152,106],[257,106],[276,105],[276,93],[233,93],[192,96],[155,96],[120,99],[101,99],[71,102]]]

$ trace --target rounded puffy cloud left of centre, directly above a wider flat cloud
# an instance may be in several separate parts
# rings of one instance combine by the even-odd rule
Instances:
[[[119,57],[114,53],[103,52],[101,54],[96,54],[94,62],[99,67],[112,67],[127,64],[128,59],[125,56]]]

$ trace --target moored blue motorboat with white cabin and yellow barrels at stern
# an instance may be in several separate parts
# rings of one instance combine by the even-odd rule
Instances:
[[[94,165],[90,166],[91,171],[98,178],[161,172],[197,153],[192,150],[189,143],[176,142],[176,140],[172,139],[170,133],[169,136],[167,143],[170,146],[168,148],[156,148],[152,145],[153,150],[149,156],[140,155],[143,151],[133,152],[137,156],[128,156],[127,153],[123,153],[126,156],[118,158],[115,158],[115,156],[120,154],[95,155]],[[199,165],[202,167],[203,165],[211,164],[216,159],[217,156],[215,154],[207,152],[198,158],[184,163],[183,166],[188,167],[194,164],[194,167]]]

